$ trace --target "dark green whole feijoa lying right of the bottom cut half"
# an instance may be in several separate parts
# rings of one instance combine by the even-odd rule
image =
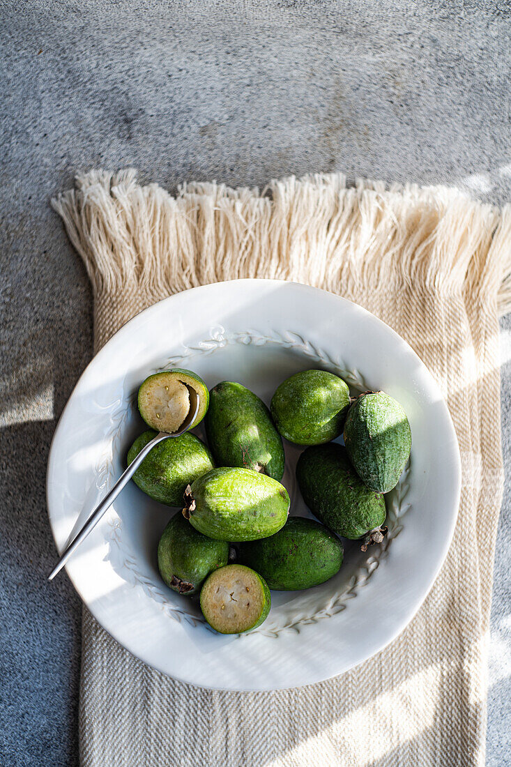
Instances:
[[[239,545],[239,558],[275,591],[298,591],[325,583],[342,565],[338,538],[313,519],[290,517],[282,530],[262,541]]]

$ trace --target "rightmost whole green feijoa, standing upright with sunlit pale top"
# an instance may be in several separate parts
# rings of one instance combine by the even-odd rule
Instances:
[[[361,480],[371,490],[389,492],[410,458],[407,414],[383,391],[362,394],[348,412],[345,445]]]

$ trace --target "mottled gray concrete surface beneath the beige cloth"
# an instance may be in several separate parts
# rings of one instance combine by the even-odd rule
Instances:
[[[51,212],[77,170],[167,188],[275,176],[511,200],[509,2],[0,2],[0,763],[77,763],[80,604],[45,580],[51,435],[91,357],[91,291]],[[511,318],[488,767],[511,763]],[[440,763],[440,762],[439,762]]]

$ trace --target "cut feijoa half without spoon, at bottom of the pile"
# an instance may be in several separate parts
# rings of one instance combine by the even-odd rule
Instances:
[[[203,616],[219,634],[242,634],[260,626],[271,606],[264,578],[244,565],[215,570],[200,592]]]

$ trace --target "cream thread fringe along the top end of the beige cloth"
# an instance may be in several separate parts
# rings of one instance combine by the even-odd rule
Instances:
[[[293,279],[335,291],[401,282],[441,293],[495,295],[511,311],[511,206],[456,189],[340,173],[258,189],[189,183],[176,197],[140,186],[133,169],[93,170],[51,205],[94,290],[157,296],[237,277]]]

